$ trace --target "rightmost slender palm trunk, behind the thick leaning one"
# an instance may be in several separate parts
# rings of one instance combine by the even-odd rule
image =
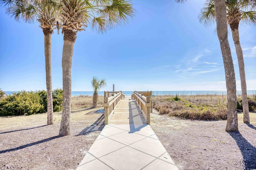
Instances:
[[[250,123],[246,78],[245,78],[245,70],[244,70],[244,55],[243,55],[242,47],[240,45],[238,26],[239,26],[238,20],[236,22],[230,23],[230,28],[232,30],[232,37],[236,47],[236,55],[238,60],[239,73],[240,73],[244,123]]]

